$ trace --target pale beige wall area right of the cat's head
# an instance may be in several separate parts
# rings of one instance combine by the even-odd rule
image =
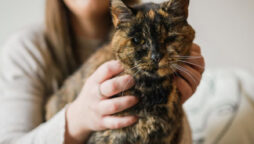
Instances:
[[[190,23],[210,67],[254,72],[254,1],[192,0]]]

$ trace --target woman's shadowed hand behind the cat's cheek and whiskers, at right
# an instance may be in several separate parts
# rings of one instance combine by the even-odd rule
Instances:
[[[193,44],[190,56],[181,58],[181,62],[183,65],[178,68],[181,77],[177,77],[176,82],[184,103],[196,91],[204,72],[205,61],[200,47]]]

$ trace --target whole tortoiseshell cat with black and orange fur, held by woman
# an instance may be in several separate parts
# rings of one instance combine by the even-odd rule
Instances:
[[[47,119],[73,101],[85,80],[108,60],[117,59],[123,74],[134,77],[136,85],[124,92],[139,103],[117,115],[137,115],[133,126],[95,132],[88,144],[179,144],[186,135],[181,96],[173,81],[179,56],[189,54],[195,32],[187,23],[189,0],[169,0],[132,7],[112,0],[115,33],[71,76],[47,104]],[[116,95],[121,96],[122,94]],[[185,130],[184,130],[185,129]],[[184,143],[191,143],[191,140]]]

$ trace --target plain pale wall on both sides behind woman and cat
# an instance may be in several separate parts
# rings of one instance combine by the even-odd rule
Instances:
[[[44,0],[0,3],[0,47],[15,31],[43,22]],[[254,72],[253,0],[191,0],[189,22],[208,68],[239,67]]]

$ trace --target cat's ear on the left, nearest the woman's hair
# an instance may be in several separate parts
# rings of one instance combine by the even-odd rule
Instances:
[[[131,9],[122,0],[111,0],[111,13],[115,27],[120,23],[129,22],[133,17]]]

